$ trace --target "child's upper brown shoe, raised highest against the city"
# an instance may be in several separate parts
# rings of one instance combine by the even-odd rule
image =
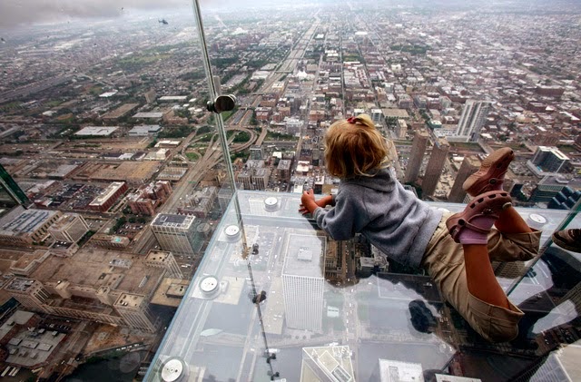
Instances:
[[[508,165],[513,159],[515,152],[509,147],[492,152],[482,161],[480,169],[468,176],[462,184],[462,189],[473,197],[487,191],[502,191]]]

